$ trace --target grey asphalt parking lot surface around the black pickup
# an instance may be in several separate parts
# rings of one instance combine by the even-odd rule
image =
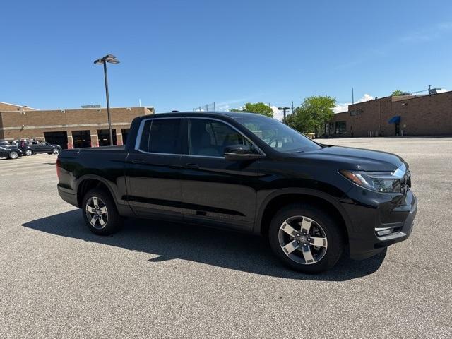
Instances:
[[[128,220],[91,234],[57,194],[56,156],[0,160],[1,338],[451,338],[452,138],[323,141],[410,164],[411,237],[322,275],[266,242]]]

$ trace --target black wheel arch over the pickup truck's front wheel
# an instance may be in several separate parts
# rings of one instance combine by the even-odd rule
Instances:
[[[263,203],[261,203],[261,208],[258,210],[254,233],[266,237],[272,216],[276,211],[283,208],[283,206],[296,202],[310,203],[319,206],[323,210],[328,210],[340,222],[343,232],[345,232],[345,238],[348,241],[351,221],[345,213],[345,210],[343,210],[342,206],[333,197],[326,193],[310,189],[282,189],[267,196]]]

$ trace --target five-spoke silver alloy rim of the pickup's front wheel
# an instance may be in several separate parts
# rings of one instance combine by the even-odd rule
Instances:
[[[321,225],[303,215],[286,219],[280,226],[278,240],[286,256],[304,265],[321,261],[328,249]]]

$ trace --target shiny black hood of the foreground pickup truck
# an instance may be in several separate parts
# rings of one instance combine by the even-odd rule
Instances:
[[[392,172],[405,163],[401,157],[392,153],[339,146],[328,146],[319,150],[295,154],[304,159],[335,162],[341,169],[360,171]]]

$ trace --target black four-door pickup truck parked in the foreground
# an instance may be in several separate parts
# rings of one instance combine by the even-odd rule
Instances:
[[[397,155],[323,145],[250,113],[137,117],[126,145],[63,150],[57,173],[96,234],[123,217],[252,232],[305,273],[407,239],[417,210]]]

